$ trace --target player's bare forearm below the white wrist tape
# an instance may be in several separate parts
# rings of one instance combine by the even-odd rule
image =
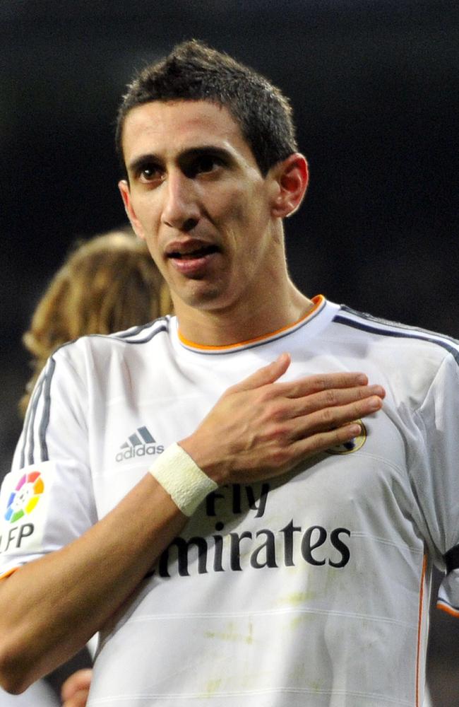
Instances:
[[[88,532],[0,583],[0,680],[23,691],[121,607],[186,517],[147,474]]]

